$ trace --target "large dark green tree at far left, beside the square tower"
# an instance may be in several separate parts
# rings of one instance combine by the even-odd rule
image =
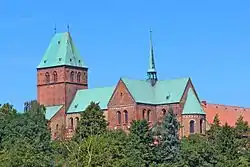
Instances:
[[[44,116],[44,107],[36,101],[30,108],[17,114],[4,128],[2,161],[0,166],[52,166],[50,133]]]

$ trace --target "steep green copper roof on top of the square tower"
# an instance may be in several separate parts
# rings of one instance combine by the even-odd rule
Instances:
[[[79,51],[76,49],[70,33],[57,33],[52,38],[40,64],[37,68],[69,65],[85,67]]]

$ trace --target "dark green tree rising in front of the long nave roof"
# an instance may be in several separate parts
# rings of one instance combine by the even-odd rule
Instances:
[[[107,121],[98,103],[91,102],[81,113],[81,119],[74,136],[75,141],[82,141],[93,135],[100,135],[107,130]]]

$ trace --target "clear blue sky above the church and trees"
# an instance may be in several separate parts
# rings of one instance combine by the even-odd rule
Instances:
[[[250,1],[2,0],[0,103],[36,98],[36,66],[53,35],[70,31],[89,86],[143,79],[153,30],[160,79],[190,76],[201,100],[250,107]]]

